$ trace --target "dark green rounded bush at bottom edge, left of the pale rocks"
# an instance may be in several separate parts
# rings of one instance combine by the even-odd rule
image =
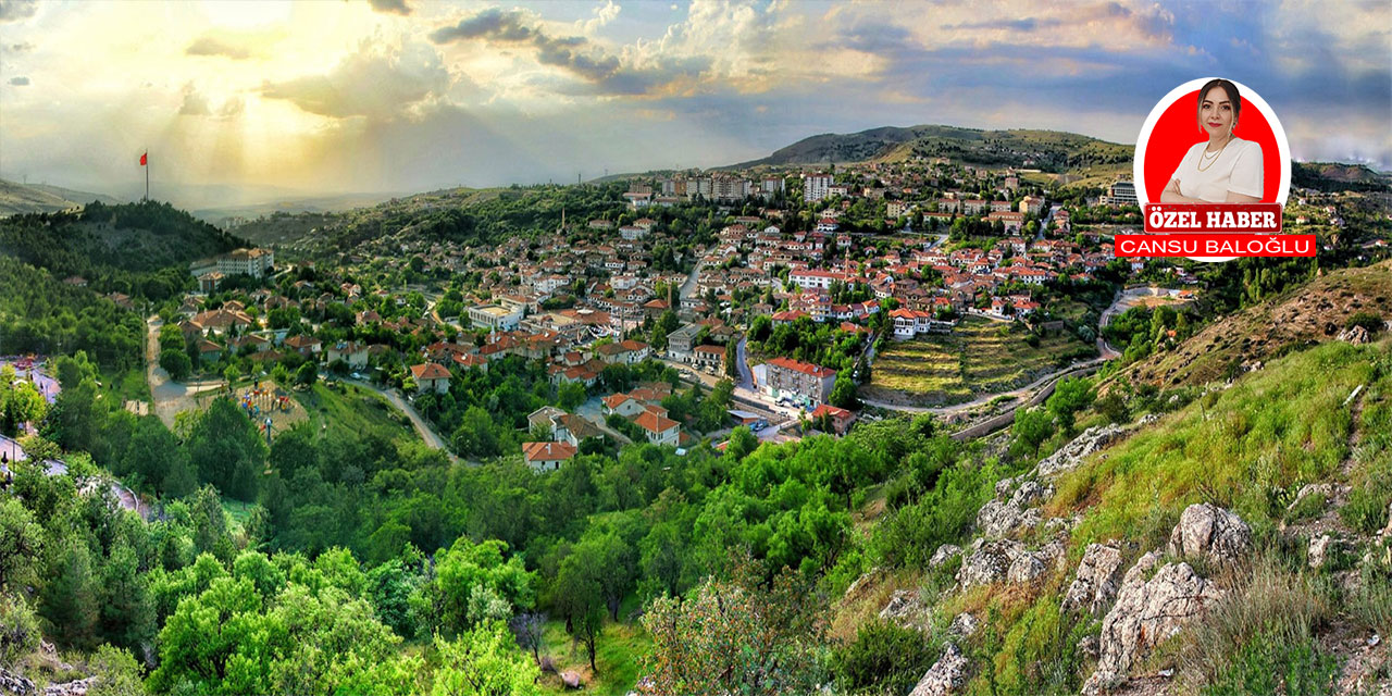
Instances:
[[[837,683],[846,693],[908,693],[937,660],[937,640],[884,619],[860,626],[855,640],[831,657]]]

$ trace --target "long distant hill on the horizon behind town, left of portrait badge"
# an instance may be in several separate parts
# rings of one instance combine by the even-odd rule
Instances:
[[[913,125],[813,135],[767,157],[727,168],[903,160],[920,156],[1062,173],[1098,164],[1129,164],[1132,153],[1129,145],[1059,131],[981,131],[952,125]]]

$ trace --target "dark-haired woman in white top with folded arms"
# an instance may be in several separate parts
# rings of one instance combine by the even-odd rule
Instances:
[[[1161,203],[1261,202],[1261,145],[1232,134],[1240,111],[1237,85],[1211,79],[1199,90],[1199,127],[1208,139],[1185,153]]]

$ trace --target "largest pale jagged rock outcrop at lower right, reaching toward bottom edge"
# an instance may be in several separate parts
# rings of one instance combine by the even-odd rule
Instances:
[[[1160,551],[1151,551],[1126,571],[1116,604],[1102,618],[1097,671],[1083,685],[1084,695],[1102,693],[1125,681],[1157,644],[1222,596],[1189,564],[1160,565]]]

